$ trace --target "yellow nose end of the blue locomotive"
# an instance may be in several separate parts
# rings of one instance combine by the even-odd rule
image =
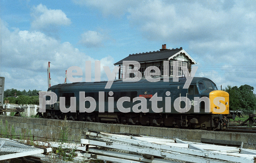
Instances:
[[[229,114],[229,93],[214,90],[209,93],[210,110],[212,114]]]

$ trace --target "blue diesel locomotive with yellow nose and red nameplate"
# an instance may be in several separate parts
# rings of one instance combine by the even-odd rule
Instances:
[[[44,118],[64,119],[66,116],[69,120],[104,123],[204,130],[227,128],[228,119],[234,118],[229,114],[229,94],[218,90],[208,78],[194,77],[188,89],[183,88],[185,82],[184,77],[180,77],[178,82],[173,82],[172,78],[169,82],[163,81],[163,78],[157,82],[145,78],[136,82],[114,80],[110,89],[105,89],[107,81],[58,84],[48,89],[57,95],[57,102],[46,105],[43,115]],[[84,97],[80,98],[80,95]],[[76,112],[63,113],[60,97],[65,97],[66,108],[74,100],[71,97],[76,97]],[[88,100],[81,102],[86,97],[95,100],[93,112],[85,111],[93,105]],[[207,97],[208,101],[203,97]]]

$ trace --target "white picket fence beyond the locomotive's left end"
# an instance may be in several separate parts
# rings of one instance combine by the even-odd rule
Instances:
[[[24,108],[24,112],[21,112],[21,116],[35,116],[37,114],[37,109],[39,109],[39,105],[34,104],[4,104],[8,109],[16,109],[16,108]],[[5,107],[4,106],[4,107]],[[11,115],[11,112],[6,112],[7,116]]]

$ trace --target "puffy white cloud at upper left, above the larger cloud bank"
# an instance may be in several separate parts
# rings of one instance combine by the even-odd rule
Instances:
[[[59,26],[68,26],[71,20],[67,18],[66,14],[59,9],[47,9],[45,5],[39,4],[32,8],[31,23],[32,29],[41,30],[44,32],[56,32]]]

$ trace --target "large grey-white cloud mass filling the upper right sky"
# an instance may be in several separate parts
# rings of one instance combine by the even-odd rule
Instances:
[[[130,25],[148,40],[173,44],[216,39],[238,41],[248,35],[246,28],[256,25],[256,6],[249,1],[73,1],[97,8],[106,16],[126,14]]]

